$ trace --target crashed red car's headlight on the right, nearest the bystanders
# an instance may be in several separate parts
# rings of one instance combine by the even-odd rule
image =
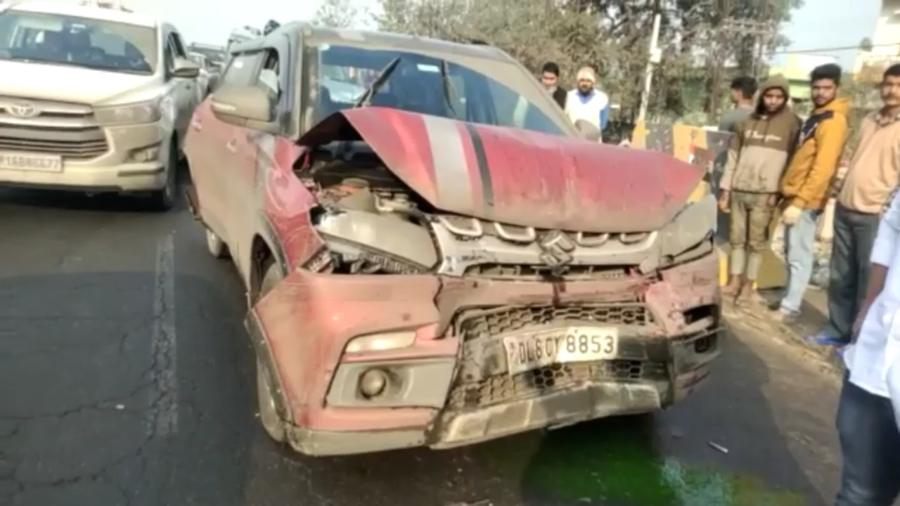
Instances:
[[[715,237],[717,225],[715,195],[706,194],[697,202],[689,203],[661,230],[662,256],[678,257],[704,240]]]

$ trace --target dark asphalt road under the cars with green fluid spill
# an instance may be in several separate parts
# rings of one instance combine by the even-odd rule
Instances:
[[[0,504],[793,506],[833,494],[837,378],[752,318],[733,319],[706,388],[653,417],[454,451],[292,455],[255,418],[236,272],[207,255],[184,207],[140,208],[0,190]]]

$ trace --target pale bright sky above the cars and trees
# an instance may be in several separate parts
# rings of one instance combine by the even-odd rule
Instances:
[[[193,42],[221,43],[235,27],[250,24],[262,27],[269,19],[296,21],[311,19],[318,1],[249,0],[123,0],[133,9],[174,23],[184,38]],[[356,0],[360,7],[372,8],[375,0]],[[880,0],[806,0],[806,6],[794,13],[786,27],[794,43],[790,50],[819,50],[856,46],[870,37],[880,10]],[[852,68],[855,50],[822,51]]]

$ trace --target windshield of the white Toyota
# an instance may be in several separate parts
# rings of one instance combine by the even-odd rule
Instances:
[[[157,33],[148,26],[9,10],[0,14],[0,59],[152,74]]]

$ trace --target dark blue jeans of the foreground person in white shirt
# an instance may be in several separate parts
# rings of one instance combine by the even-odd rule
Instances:
[[[844,376],[837,428],[843,465],[834,506],[891,506],[900,495],[900,429],[890,399]]]

